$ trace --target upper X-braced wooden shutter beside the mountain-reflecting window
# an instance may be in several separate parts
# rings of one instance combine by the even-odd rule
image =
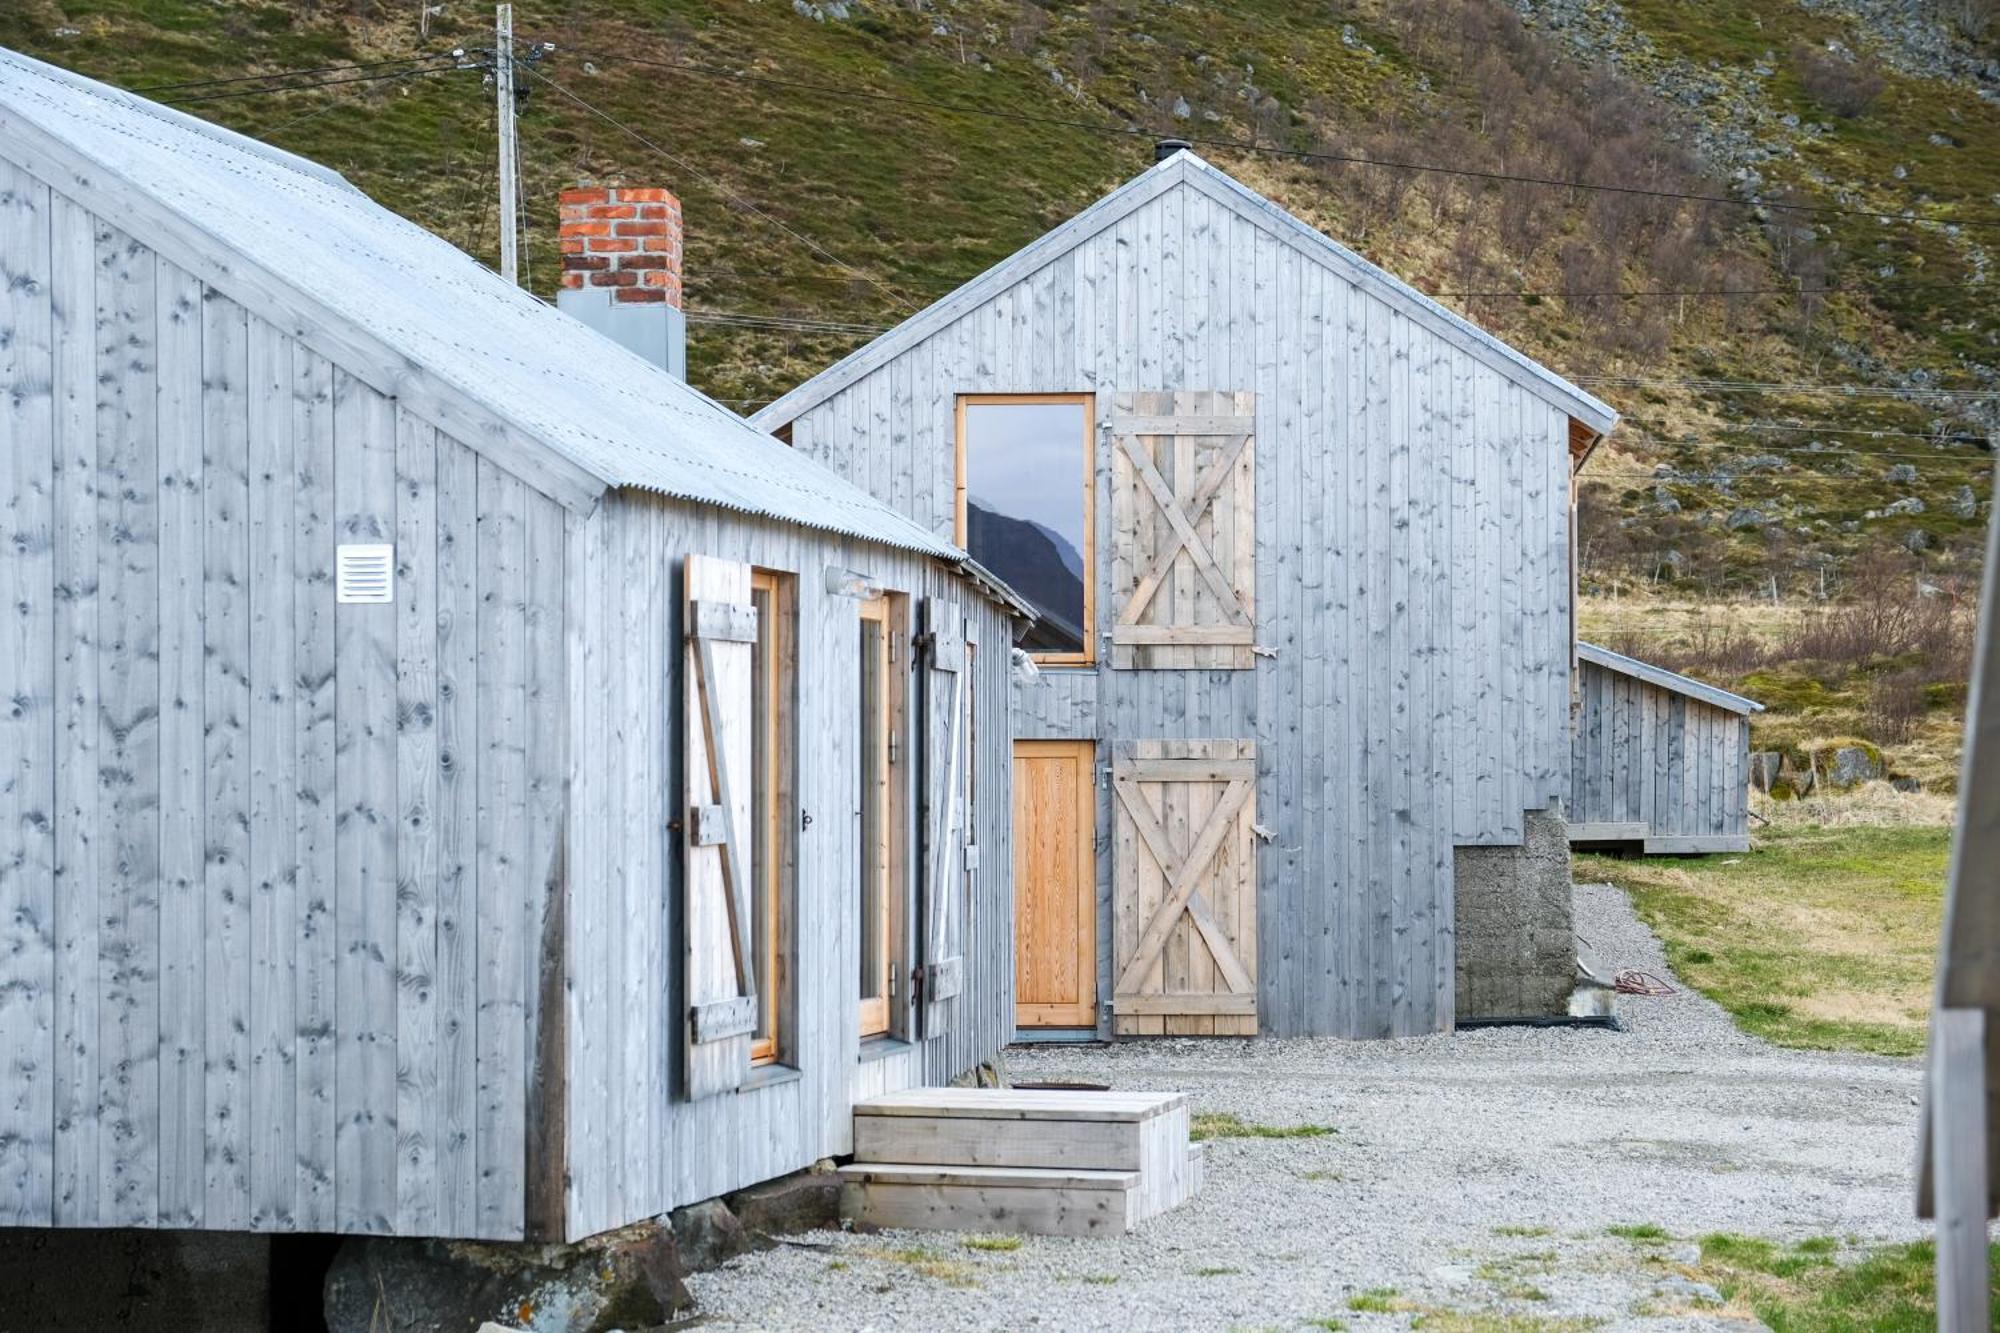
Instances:
[[[1250,669],[1256,394],[1120,394],[1110,432],[1112,666]]]

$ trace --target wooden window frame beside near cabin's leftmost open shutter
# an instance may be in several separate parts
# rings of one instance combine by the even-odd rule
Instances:
[[[752,644],[764,671],[764,727],[750,743],[762,747],[764,753],[762,791],[758,793],[764,801],[764,821],[754,829],[754,837],[760,839],[760,855],[756,857],[758,877],[752,893],[756,895],[754,911],[764,925],[764,951],[758,957],[758,1015],[766,1019],[766,1035],[750,1039],[752,1067],[776,1065],[786,1041],[786,995],[792,977],[786,963],[794,957],[792,895],[788,889],[796,869],[790,819],[792,793],[796,791],[792,769],[796,733],[788,727],[796,715],[798,685],[796,578],[780,570],[752,568],[752,604],[758,592],[768,598],[772,614],[768,624],[760,618],[758,638]]]

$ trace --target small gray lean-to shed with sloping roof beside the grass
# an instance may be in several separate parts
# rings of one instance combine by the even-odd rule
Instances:
[[[1750,715],[1764,705],[1576,644],[1570,845],[1750,851]]]

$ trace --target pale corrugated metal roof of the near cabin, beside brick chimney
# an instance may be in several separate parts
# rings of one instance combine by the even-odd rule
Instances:
[[[964,556],[336,172],[0,50],[0,140],[14,120],[278,274],[340,326],[424,366],[606,486]]]

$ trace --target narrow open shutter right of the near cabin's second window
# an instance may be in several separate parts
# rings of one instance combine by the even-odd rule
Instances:
[[[966,614],[956,602],[924,602],[924,1035],[952,1021],[966,985],[964,897],[968,857],[966,771],[972,691]]]

